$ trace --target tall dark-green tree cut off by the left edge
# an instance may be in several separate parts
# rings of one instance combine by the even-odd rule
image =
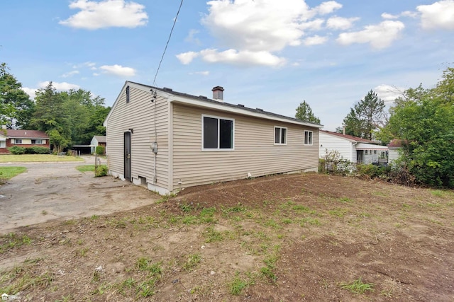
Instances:
[[[28,127],[34,103],[23,91],[22,84],[0,64],[0,122],[9,129]]]

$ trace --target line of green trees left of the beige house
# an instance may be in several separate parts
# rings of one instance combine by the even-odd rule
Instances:
[[[36,92],[35,100],[0,64],[0,122],[8,129],[41,130],[50,137],[55,152],[89,144],[94,135],[106,135],[103,122],[109,114],[104,98],[84,89],[57,91],[52,82]]]

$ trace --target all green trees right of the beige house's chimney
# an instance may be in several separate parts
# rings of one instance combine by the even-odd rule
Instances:
[[[319,124],[304,101],[295,117]],[[336,132],[383,145],[402,146],[392,172],[414,185],[454,188],[454,68],[443,71],[435,88],[409,88],[386,110],[375,91],[350,108]]]

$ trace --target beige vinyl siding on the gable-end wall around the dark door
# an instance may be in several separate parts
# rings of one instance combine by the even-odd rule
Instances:
[[[151,102],[152,95],[133,86],[130,87],[130,102],[126,103],[123,89],[114,111],[107,120],[107,154],[109,169],[124,175],[123,133],[133,129],[131,134],[131,177],[146,178],[152,183],[154,174],[154,153],[150,149],[153,141],[158,143],[157,183],[159,187],[168,187],[169,150],[168,150],[168,103],[165,98]],[[156,115],[155,115],[156,108]],[[156,118],[156,138],[155,138]]]

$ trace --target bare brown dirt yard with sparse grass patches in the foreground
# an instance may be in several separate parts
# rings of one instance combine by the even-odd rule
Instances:
[[[206,185],[5,233],[0,291],[19,301],[454,301],[453,217],[452,191],[354,178]]]

